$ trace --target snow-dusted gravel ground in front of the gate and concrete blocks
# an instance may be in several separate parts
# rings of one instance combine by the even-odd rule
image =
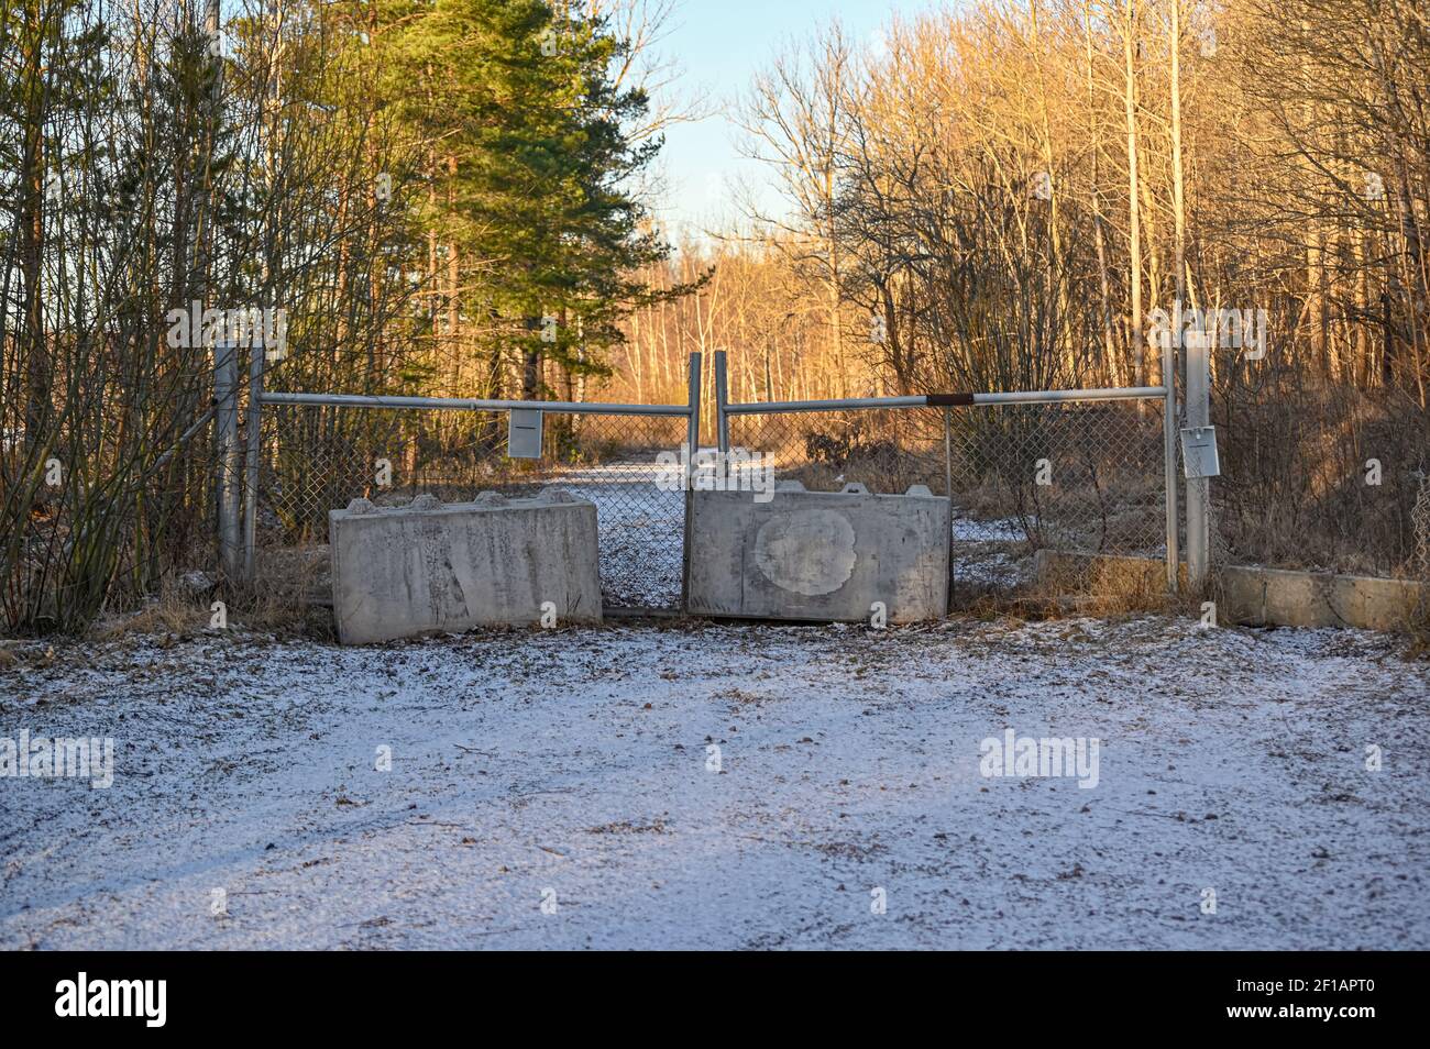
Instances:
[[[1370,635],[14,652],[0,736],[113,736],[117,763],[109,790],[0,779],[7,949],[1430,948],[1430,669]],[[984,777],[1007,727],[1097,737],[1097,786]]]

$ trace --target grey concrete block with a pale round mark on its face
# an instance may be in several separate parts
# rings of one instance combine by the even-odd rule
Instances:
[[[940,617],[948,607],[950,517],[948,500],[922,486],[884,496],[779,484],[768,503],[748,492],[696,492],[688,607],[857,622],[882,602],[891,623]]]

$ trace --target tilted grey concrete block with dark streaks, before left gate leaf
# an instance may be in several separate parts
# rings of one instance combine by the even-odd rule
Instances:
[[[329,512],[327,535],[343,645],[535,623],[545,602],[558,623],[601,622],[596,507],[566,492],[398,507],[355,499]]]

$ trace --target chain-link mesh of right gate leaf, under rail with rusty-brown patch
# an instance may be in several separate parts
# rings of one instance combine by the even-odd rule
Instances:
[[[1165,557],[1160,400],[739,413],[729,444],[809,490],[948,494],[964,595],[1027,582],[1041,547]]]

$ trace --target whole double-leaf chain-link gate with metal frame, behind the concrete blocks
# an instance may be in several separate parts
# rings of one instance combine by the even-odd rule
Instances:
[[[689,492],[671,483],[669,457],[698,444],[698,357],[688,406],[265,393],[249,443],[256,573],[323,600],[333,507],[558,486],[596,506],[605,606],[679,610]],[[1160,387],[726,404],[722,357],[722,450],[768,456],[778,479],[809,490],[858,482],[948,494],[951,572],[964,593],[1020,586],[1044,547],[1175,560],[1175,457]],[[539,459],[508,456],[516,409],[543,414]]]

